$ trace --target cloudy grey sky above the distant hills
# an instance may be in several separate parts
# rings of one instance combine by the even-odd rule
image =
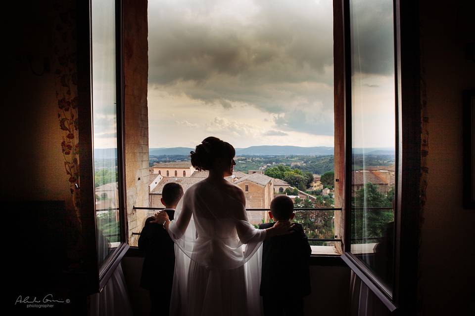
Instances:
[[[149,146],[333,146],[332,19],[331,0],[149,0]],[[380,103],[375,64],[359,82]]]

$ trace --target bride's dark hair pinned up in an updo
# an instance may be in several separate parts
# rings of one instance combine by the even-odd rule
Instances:
[[[209,170],[217,160],[231,161],[236,155],[234,147],[217,137],[206,137],[190,152],[191,165],[198,171]]]

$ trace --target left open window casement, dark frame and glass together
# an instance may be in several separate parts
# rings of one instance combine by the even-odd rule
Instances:
[[[122,5],[120,0],[91,0],[79,4],[78,11],[81,208],[84,248],[89,253],[85,265],[91,276],[88,287],[97,292],[129,248],[124,183]]]

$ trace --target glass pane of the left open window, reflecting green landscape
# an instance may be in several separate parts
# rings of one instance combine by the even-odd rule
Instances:
[[[120,243],[115,0],[92,1],[95,212],[99,266]]]

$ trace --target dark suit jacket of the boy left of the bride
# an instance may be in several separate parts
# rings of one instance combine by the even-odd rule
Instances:
[[[166,210],[170,220],[175,211]],[[175,269],[175,243],[163,225],[145,221],[139,237],[139,249],[144,252],[140,286],[154,291],[171,291]]]

